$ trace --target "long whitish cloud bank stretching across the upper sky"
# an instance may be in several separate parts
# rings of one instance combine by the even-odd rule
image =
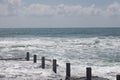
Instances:
[[[120,15],[120,3],[114,2],[106,8],[98,8],[94,4],[83,7],[81,5],[45,5],[31,3],[22,5],[22,0],[3,0],[0,4],[0,15],[3,16],[114,16]]]

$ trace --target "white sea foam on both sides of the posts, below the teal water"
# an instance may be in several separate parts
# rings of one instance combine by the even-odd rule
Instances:
[[[31,57],[37,54],[38,58],[45,56],[51,60],[57,59],[58,74],[51,71],[51,62],[48,63],[50,67],[42,70],[38,68],[39,64],[32,62],[0,61],[0,75],[7,75],[6,78],[19,75],[17,76],[18,79],[21,76],[23,79],[63,79],[66,62],[72,64],[72,76],[85,76],[87,66],[93,68],[93,75],[111,80],[115,80],[115,75],[120,73],[118,71],[120,66],[120,38],[0,38],[0,58],[24,58],[27,51],[31,53]],[[30,77],[31,75],[33,76]]]

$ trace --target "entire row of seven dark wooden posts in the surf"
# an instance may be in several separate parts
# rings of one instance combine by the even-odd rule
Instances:
[[[26,60],[30,60],[30,53],[26,53]],[[42,57],[41,59],[42,63],[42,69],[45,69],[45,57]],[[33,62],[37,63],[37,55],[33,56]],[[53,72],[57,73],[57,60],[53,59]],[[66,80],[70,80],[71,78],[71,68],[70,68],[70,63],[66,63]],[[92,80],[92,68],[87,67],[86,68],[86,80]],[[120,75],[116,76],[116,80],[120,80]]]

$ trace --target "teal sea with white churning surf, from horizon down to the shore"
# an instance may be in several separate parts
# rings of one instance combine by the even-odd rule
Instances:
[[[26,52],[30,52],[31,59],[35,54],[38,59],[56,59],[58,77],[65,76],[66,63],[71,63],[71,76],[86,76],[86,67],[91,67],[92,75],[116,80],[120,74],[120,28],[0,28],[0,59],[25,58]],[[13,66],[3,62],[0,61],[0,75],[4,76],[9,73],[13,77],[14,71],[27,76],[33,69],[25,71],[25,62],[21,62],[22,66],[16,62],[17,68],[15,62],[10,62]],[[33,70],[31,75],[37,73]]]

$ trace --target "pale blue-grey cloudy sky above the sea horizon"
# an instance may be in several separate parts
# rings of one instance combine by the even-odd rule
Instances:
[[[120,27],[120,0],[0,0],[0,28]]]

